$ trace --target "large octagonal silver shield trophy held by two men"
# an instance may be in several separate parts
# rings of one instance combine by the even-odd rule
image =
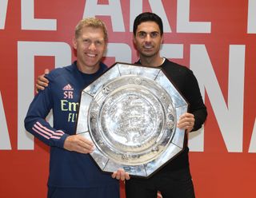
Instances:
[[[76,133],[102,171],[146,177],[182,151],[187,106],[161,68],[116,63],[82,90]]]

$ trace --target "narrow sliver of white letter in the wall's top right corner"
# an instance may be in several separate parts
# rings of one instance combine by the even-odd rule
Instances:
[[[256,0],[249,0],[247,18],[247,33],[256,34]]]

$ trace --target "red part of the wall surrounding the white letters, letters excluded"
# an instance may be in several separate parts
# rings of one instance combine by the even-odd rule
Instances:
[[[228,152],[206,92],[205,101],[209,116],[204,130],[204,148],[202,152],[190,152],[190,167],[196,195],[198,198],[253,198],[256,195],[254,180],[256,177],[254,152],[256,151],[249,153],[248,150],[250,142],[253,141],[253,131],[255,130],[256,133],[254,129],[256,35],[247,34],[248,1],[188,1],[190,2],[190,22],[211,22],[210,34],[177,32],[178,1],[158,1],[163,5],[172,29],[172,33],[165,34],[164,43],[182,44],[183,57],[173,61],[188,67],[190,66],[190,46],[205,45],[226,103],[230,91],[228,86],[230,45],[246,46],[242,152]],[[251,1],[254,2],[254,0]],[[57,30],[22,30],[21,2],[24,1],[8,1],[5,27],[0,30],[0,92],[2,96],[0,106],[2,105],[4,109],[4,112],[0,113],[6,117],[11,144],[10,150],[0,149],[0,196],[40,198],[46,197],[49,148],[35,140],[34,149],[18,149],[18,42],[66,42],[71,47],[74,26],[83,17],[85,6],[91,1],[34,1],[34,18],[56,19]],[[136,61],[138,57],[132,43],[133,35],[130,33],[130,2],[135,3],[133,7],[142,2],[142,11],[151,11],[150,1],[123,0],[120,2],[124,32],[113,30],[110,16],[99,14],[97,16],[106,22],[110,34],[109,42],[126,43],[132,50],[131,61]],[[98,1],[98,4],[106,6],[109,3],[110,1]],[[104,61],[112,65],[115,58],[106,57]],[[34,57],[34,79],[44,69],[53,69],[54,65],[54,57]],[[0,130],[2,130],[2,123],[0,123]],[[2,138],[1,133],[0,138]],[[121,189],[122,197],[125,197],[123,183]]]

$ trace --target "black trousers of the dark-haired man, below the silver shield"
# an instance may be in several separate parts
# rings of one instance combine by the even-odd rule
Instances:
[[[190,169],[156,172],[154,176],[126,180],[126,198],[195,198]]]

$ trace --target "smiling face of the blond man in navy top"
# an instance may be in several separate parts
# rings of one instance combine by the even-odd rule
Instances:
[[[74,49],[77,49],[78,67],[82,71],[98,69],[106,50],[104,33],[101,28],[84,27],[78,38],[74,38]]]

